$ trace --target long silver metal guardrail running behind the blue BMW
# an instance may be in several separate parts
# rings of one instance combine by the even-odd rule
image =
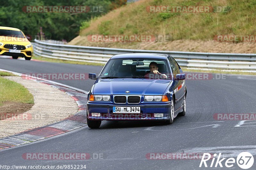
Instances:
[[[105,64],[110,57],[116,54],[160,53],[172,55],[180,66],[210,69],[256,70],[256,54],[199,53],[103,48],[54,44],[39,40],[35,40],[33,45],[35,55],[61,60]]]

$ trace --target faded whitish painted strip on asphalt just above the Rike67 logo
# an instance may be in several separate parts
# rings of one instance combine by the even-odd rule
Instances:
[[[223,153],[223,157],[236,157],[241,152],[250,152],[256,155],[256,145],[244,146],[217,146],[217,147],[198,147],[186,148],[178,151],[180,153]]]

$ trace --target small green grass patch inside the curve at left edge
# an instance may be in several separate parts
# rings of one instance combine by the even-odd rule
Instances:
[[[4,74],[6,74],[6,72],[0,72],[0,75]],[[28,89],[19,83],[0,76],[0,106],[2,106],[5,101],[34,104],[34,97],[28,92]]]

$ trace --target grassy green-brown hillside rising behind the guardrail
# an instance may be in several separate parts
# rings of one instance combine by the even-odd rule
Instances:
[[[148,6],[211,6],[211,12],[148,12]],[[216,12],[217,6],[222,6],[225,11]],[[141,0],[127,4],[108,14],[94,18],[84,23],[78,37],[69,44],[117,47],[117,48],[141,48],[141,49],[163,49],[175,50],[172,46],[178,46],[180,42],[188,41],[187,44],[196,42],[202,46],[217,46],[213,42],[216,35],[256,35],[256,1],[255,0]],[[169,42],[153,44],[152,42],[90,42],[89,35],[168,35]],[[209,44],[210,42],[210,44]],[[237,41],[240,42],[240,41]],[[212,44],[211,44],[212,43]],[[232,43],[232,42],[231,42]],[[169,44],[169,45],[168,45]],[[186,44],[186,43],[184,43]],[[237,45],[239,44],[239,45]],[[255,51],[255,42],[234,43],[236,48],[244,52]],[[164,46],[166,46],[164,48]],[[193,46],[193,44],[192,44]],[[229,47],[230,43],[222,42],[220,47]],[[182,48],[182,47],[180,47]],[[231,45],[234,50],[233,46]],[[249,49],[247,49],[249,48]],[[160,48],[162,49],[162,48]],[[179,49],[179,48],[178,48]],[[186,48],[182,48],[186,50]],[[193,46],[189,51],[204,51],[205,48],[197,50]],[[219,52],[222,49],[210,51]],[[209,51],[209,52],[210,52]],[[236,52],[236,51],[235,51]],[[241,51],[238,51],[241,52]]]

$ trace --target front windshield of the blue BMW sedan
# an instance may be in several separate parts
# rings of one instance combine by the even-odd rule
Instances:
[[[158,74],[150,71],[149,64],[155,66]],[[164,74],[164,75],[162,75]],[[102,70],[99,78],[155,78],[170,79],[168,63],[164,59],[111,59]]]

